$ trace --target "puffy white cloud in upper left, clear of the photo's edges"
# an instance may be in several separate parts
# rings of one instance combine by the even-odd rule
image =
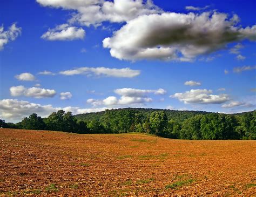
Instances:
[[[41,38],[46,40],[75,40],[84,39],[85,31],[82,28],[69,26],[69,24],[58,25],[54,29],[49,29]]]

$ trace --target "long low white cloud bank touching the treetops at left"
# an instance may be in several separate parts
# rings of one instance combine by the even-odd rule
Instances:
[[[28,117],[32,113],[38,114],[41,117],[48,117],[52,112],[64,110],[71,111],[73,114],[99,112],[106,110],[102,108],[80,108],[80,107],[53,107],[52,105],[41,105],[29,103],[24,100],[3,99],[0,100],[0,117],[6,121],[21,121],[24,117]]]

